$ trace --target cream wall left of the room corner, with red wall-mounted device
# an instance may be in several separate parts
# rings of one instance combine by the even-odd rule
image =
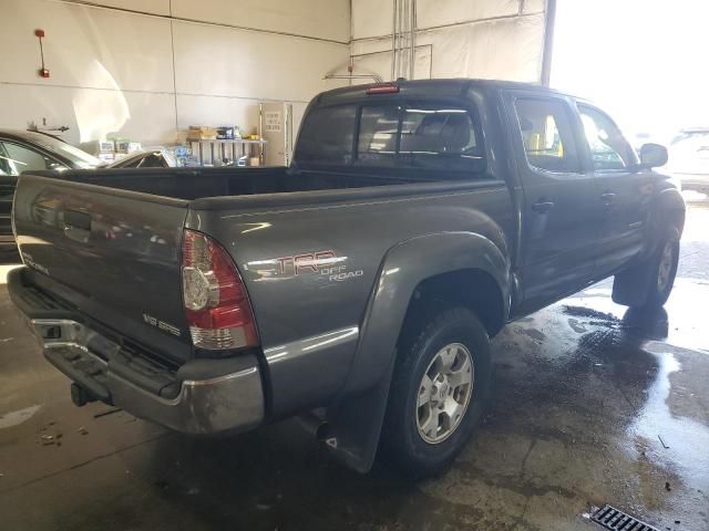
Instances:
[[[0,126],[45,118],[71,127],[72,143],[168,144],[193,124],[251,131],[259,100],[300,115],[342,84],[322,76],[350,51],[349,0],[0,0]]]

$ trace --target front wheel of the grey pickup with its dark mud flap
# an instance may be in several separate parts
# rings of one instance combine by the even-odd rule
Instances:
[[[669,264],[665,262],[666,252],[670,252]],[[679,232],[670,228],[653,256],[645,262],[616,274],[613,300],[618,304],[638,309],[664,305],[672,291],[678,263]]]

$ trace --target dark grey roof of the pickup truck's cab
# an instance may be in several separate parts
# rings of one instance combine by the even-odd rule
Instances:
[[[408,95],[431,95],[454,96],[469,86],[480,86],[489,88],[523,88],[553,94],[563,94],[559,91],[535,83],[521,83],[516,81],[503,80],[479,80],[479,79],[433,79],[433,80],[399,80],[386,83],[368,83],[361,85],[345,86],[319,94],[314,103],[316,105],[332,105],[339,102],[358,100],[364,96],[368,88],[395,84],[400,94]]]

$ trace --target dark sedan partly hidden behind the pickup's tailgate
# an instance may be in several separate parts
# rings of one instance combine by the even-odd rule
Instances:
[[[173,166],[160,149],[130,154],[111,164],[56,137],[32,131],[0,129],[0,260],[17,258],[10,222],[12,197],[22,171],[41,169],[137,168]]]

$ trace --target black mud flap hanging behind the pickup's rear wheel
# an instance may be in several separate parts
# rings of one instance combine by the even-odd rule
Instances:
[[[325,444],[336,459],[360,473],[369,472],[377,457],[395,360],[394,354],[379,383],[343,397],[328,412]]]

